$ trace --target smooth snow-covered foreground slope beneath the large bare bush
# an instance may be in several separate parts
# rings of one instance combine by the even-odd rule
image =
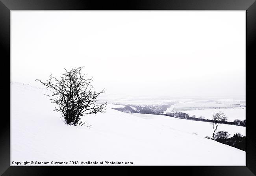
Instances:
[[[245,152],[239,149],[194,135],[183,126],[152,123],[111,106],[106,113],[84,116],[89,128],[66,125],[46,92],[11,83],[11,165],[22,161],[245,165]]]

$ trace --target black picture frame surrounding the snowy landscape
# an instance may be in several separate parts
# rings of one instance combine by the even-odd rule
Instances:
[[[170,167],[171,173],[207,176],[253,176],[256,174],[256,128],[252,115],[254,93],[254,65],[256,58],[256,2],[255,0],[122,0],[122,1],[98,1],[98,0],[0,0],[0,48],[1,52],[1,93],[4,94],[4,104],[2,105],[1,135],[0,135],[0,174],[2,175],[49,175],[54,172],[68,174],[74,170],[87,170],[96,167],[11,167],[10,166],[10,11],[11,10],[246,10],[246,101],[247,101],[247,128],[246,128],[246,166],[223,166],[223,167]],[[9,67],[8,67],[9,66]],[[9,70],[9,72],[8,72]],[[251,78],[250,78],[251,77]],[[9,94],[8,94],[9,92]],[[9,104],[8,104],[9,102]],[[100,167],[109,170],[113,167]],[[126,174],[134,173],[131,167],[114,167],[114,169],[125,169]],[[133,167],[134,168],[134,167]],[[152,172],[154,168],[147,167],[143,170]],[[93,169],[94,174],[101,169]],[[86,174],[86,172],[82,172]],[[124,171],[122,171],[124,172]],[[156,172],[159,174],[159,172]]]

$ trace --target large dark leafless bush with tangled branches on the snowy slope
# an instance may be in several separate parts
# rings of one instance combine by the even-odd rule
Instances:
[[[64,68],[65,69],[65,68]],[[60,111],[67,124],[77,125],[80,117],[86,114],[104,113],[107,102],[96,105],[96,98],[99,94],[104,93],[93,91],[91,85],[92,78],[86,78],[81,74],[82,67],[76,69],[65,69],[65,72],[59,79],[52,77],[47,82],[41,82],[46,88],[52,89],[52,103],[58,105],[54,111]]]

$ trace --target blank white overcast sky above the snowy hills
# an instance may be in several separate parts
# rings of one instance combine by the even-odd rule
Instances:
[[[11,81],[82,66],[109,95],[245,98],[245,11],[11,11]]]

